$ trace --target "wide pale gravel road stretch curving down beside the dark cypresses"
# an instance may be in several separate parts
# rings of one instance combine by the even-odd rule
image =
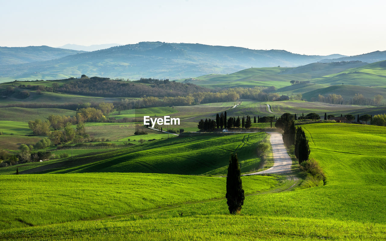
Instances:
[[[291,172],[292,159],[289,157],[287,149],[284,146],[282,135],[277,132],[267,132],[267,134],[270,135],[269,142],[271,142],[274,159],[273,167],[261,172],[243,174],[242,176]]]

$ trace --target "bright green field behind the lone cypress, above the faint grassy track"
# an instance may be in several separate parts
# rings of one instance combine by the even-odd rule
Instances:
[[[221,177],[117,173],[1,175],[0,182],[0,229],[98,219],[225,196],[225,179]],[[243,183],[246,193],[284,184],[276,177],[243,177]]]

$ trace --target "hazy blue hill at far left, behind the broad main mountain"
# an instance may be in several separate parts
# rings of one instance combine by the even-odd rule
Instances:
[[[58,59],[83,52],[48,46],[0,47],[0,66]]]

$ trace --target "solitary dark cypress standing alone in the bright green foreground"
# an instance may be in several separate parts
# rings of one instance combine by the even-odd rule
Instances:
[[[236,154],[231,154],[227,175],[227,199],[230,214],[240,213],[241,206],[244,204],[244,189],[242,189],[241,171],[239,158]]]

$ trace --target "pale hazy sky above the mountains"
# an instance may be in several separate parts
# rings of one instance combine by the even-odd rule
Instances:
[[[385,1],[0,0],[0,46],[185,42],[298,54],[386,50]]]

